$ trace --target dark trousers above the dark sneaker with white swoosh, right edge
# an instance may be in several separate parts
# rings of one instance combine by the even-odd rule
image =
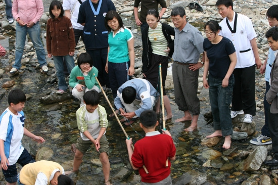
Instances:
[[[270,104],[266,101],[266,94],[270,88],[269,82],[265,81],[265,94],[263,99],[263,107],[264,107],[264,125],[261,129],[262,135],[266,135],[267,137],[270,137],[269,127],[268,127],[268,112],[270,109]]]

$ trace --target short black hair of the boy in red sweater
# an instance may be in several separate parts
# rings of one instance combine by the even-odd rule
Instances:
[[[153,128],[157,122],[157,114],[153,110],[146,110],[140,114],[140,122],[146,128]]]

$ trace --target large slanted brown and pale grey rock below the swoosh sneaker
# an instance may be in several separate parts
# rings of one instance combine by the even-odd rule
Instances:
[[[242,163],[240,168],[244,171],[257,171],[267,156],[265,146],[258,146]]]

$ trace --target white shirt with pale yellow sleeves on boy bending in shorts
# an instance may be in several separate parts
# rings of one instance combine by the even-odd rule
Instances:
[[[84,141],[89,141],[83,134],[84,131],[88,130],[92,138],[97,138],[101,128],[107,128],[108,126],[107,114],[101,105],[92,113],[87,111],[86,105],[81,106],[76,111],[76,120],[78,129],[80,130],[80,136]]]

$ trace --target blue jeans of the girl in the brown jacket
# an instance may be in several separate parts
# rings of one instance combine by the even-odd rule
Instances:
[[[74,60],[73,60],[73,57],[70,55],[53,56],[53,60],[54,60],[55,68],[56,68],[56,75],[58,77],[59,90],[62,89],[62,90],[66,91],[68,88],[68,85],[66,83],[65,76],[64,76],[63,57],[65,59],[69,74],[70,74],[72,68],[74,68]]]

